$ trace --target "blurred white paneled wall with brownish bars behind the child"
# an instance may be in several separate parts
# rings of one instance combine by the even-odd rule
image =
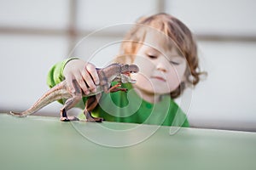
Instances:
[[[112,42],[124,37],[125,23],[166,12],[194,32],[208,72],[193,89],[191,126],[255,132],[255,7],[254,0],[0,0],[0,112],[30,107],[48,90],[56,62],[96,53],[100,67],[117,54]],[[55,102],[37,114],[59,116],[60,108]]]

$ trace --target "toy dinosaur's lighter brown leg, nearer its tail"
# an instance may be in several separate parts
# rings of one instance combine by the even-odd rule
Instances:
[[[67,99],[64,106],[61,108],[62,122],[79,121],[79,118],[75,116],[67,116],[67,111],[71,109],[74,105],[76,105],[80,99],[82,99],[82,95],[74,95],[72,98]]]

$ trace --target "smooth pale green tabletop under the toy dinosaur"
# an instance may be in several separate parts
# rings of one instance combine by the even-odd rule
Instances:
[[[256,169],[256,133],[0,114],[0,169]]]

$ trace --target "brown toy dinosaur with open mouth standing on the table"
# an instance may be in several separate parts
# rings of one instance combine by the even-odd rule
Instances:
[[[113,93],[117,91],[125,91],[126,88],[119,88],[121,83],[131,82],[135,83],[135,80],[132,80],[130,77],[130,73],[136,73],[139,71],[137,65],[122,65],[113,63],[108,65],[102,69],[96,69],[100,83],[96,85],[96,92],[90,94],[84,94],[82,89],[79,88],[78,82],[73,81],[73,85],[75,87],[75,92],[72,93],[67,88],[67,82],[64,80],[59,84],[56,84],[55,87],[50,88],[38,101],[32,105],[32,107],[23,112],[13,112],[10,111],[11,115],[14,116],[28,116],[36,111],[42,109],[44,106],[49,105],[50,103],[59,100],[59,99],[67,99],[61,108],[61,121],[79,121],[79,118],[75,116],[67,116],[67,111],[71,109],[74,105],[78,104],[82,97],[88,97],[85,103],[84,115],[86,117],[86,121],[88,122],[102,122],[102,117],[93,117],[91,116],[90,111],[92,111],[96,105],[102,92],[105,93]],[[111,82],[118,82],[113,87],[111,86]]]

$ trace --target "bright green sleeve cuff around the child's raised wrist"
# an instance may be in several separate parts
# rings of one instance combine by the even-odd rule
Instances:
[[[67,62],[72,59],[77,58],[64,59],[51,67],[47,77],[47,85],[49,86],[49,88],[54,87],[56,84],[62,82],[65,79],[65,77],[63,76],[64,67],[65,65],[67,65]]]

